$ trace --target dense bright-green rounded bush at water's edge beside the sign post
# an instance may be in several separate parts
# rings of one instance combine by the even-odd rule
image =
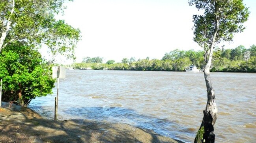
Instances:
[[[36,97],[52,93],[54,81],[41,54],[21,43],[8,45],[0,54],[3,98],[27,106]],[[21,93],[21,99],[18,94]]]

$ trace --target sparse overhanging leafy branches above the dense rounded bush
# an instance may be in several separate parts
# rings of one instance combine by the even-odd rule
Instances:
[[[53,55],[62,54],[75,59],[74,48],[80,40],[80,30],[67,25],[64,20],[54,19],[54,15],[63,13],[64,2],[65,0],[14,0],[13,7],[12,0],[1,0],[0,29],[6,30],[7,35],[6,38],[2,37],[4,45],[0,45],[0,51],[6,45],[19,41],[26,42],[30,47],[45,44]]]

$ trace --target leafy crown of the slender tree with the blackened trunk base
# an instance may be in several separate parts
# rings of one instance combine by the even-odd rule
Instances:
[[[198,10],[204,10],[204,15],[193,16],[193,22],[194,41],[205,50],[211,44],[232,41],[234,33],[245,29],[243,23],[249,17],[243,0],[189,0],[189,4],[195,5]]]

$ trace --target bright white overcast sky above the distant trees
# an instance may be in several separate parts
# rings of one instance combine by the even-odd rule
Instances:
[[[75,62],[84,57],[103,57],[103,62],[134,57],[162,59],[174,49],[202,50],[193,41],[193,14],[198,14],[188,0],[74,0],[66,2],[64,15],[56,19],[81,31]],[[244,0],[250,17],[243,33],[225,48],[256,44],[256,0]],[[43,54],[46,55],[46,54]],[[45,56],[46,57],[46,56]],[[56,62],[72,63],[57,57]]]

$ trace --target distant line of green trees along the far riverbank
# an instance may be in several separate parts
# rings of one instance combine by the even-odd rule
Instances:
[[[212,72],[256,72],[256,45],[246,49],[244,46],[235,49],[220,49],[214,51]],[[164,54],[161,60],[123,58],[121,63],[109,60],[102,63],[102,58],[86,57],[82,63],[73,63],[75,69],[88,68],[95,70],[134,70],[134,71],[185,71],[189,65],[196,65],[202,69],[204,65],[204,51],[183,51],[175,49]]]

